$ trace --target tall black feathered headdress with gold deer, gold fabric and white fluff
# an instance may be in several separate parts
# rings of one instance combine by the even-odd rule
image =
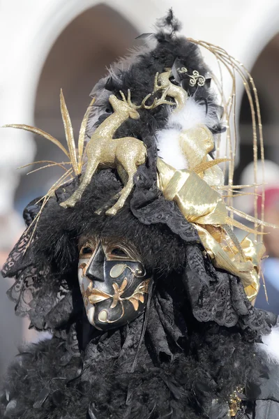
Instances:
[[[76,263],[76,240],[79,235],[84,234],[84,230],[102,230],[104,225],[113,229],[115,226],[121,226],[122,222],[123,226],[126,226],[127,217],[130,217],[131,226],[126,229],[126,234],[133,235],[134,240],[139,241],[137,244],[146,263],[151,264],[158,272],[169,272],[177,267],[180,267],[182,272],[186,263],[184,253],[187,251],[178,249],[186,249],[190,245],[202,251],[204,247],[208,253],[205,260],[212,260],[216,267],[223,270],[227,268],[230,275],[220,273],[221,277],[227,276],[224,280],[227,287],[230,283],[229,277],[234,274],[241,277],[248,297],[255,297],[258,288],[257,258],[261,257],[261,250],[253,249],[251,241],[239,243],[231,227],[227,225],[230,223],[232,226],[241,226],[241,223],[229,218],[227,211],[231,210],[231,207],[225,204],[222,197],[222,191],[227,190],[227,195],[230,195],[229,191],[233,190],[233,185],[230,183],[229,186],[225,186],[223,172],[217,166],[217,163],[224,159],[214,160],[211,157],[216,135],[223,131],[220,119],[223,112],[220,112],[216,94],[206,82],[210,76],[209,70],[204,64],[197,43],[176,34],[179,23],[171,10],[165,20],[158,21],[158,29],[157,34],[149,34],[156,39],[155,47],[144,47],[126,61],[121,61],[121,64],[114,64],[110,74],[94,87],[91,93],[93,101],[86,111],[80,130],[78,156],[62,93],[61,112],[66,125],[68,151],[63,149],[58,140],[38,128],[15,126],[37,132],[55,142],[69,156],[73,169],[66,172],[47,196],[32,201],[24,210],[24,219],[27,225],[31,225],[3,267],[4,275],[14,276],[18,272],[22,274],[24,267],[27,267],[29,272],[35,259],[36,265],[41,265],[43,270],[45,263],[50,265],[47,269],[55,273],[54,276],[65,274],[71,270],[72,264]],[[225,57],[225,52],[223,56]],[[115,103],[112,103],[112,97],[115,98]],[[119,109],[121,104],[130,109],[127,112],[128,117],[125,115],[121,122],[114,124],[112,119],[117,118],[118,112],[119,115],[123,113],[123,110]],[[133,117],[129,112],[135,112],[137,115]],[[72,202],[71,206],[75,205],[73,208],[61,207],[61,204],[66,204],[68,198],[73,197],[80,189],[80,183],[84,182],[87,171],[96,164],[91,162],[89,148],[91,144],[95,145],[98,142],[103,131],[105,135],[110,136],[107,129],[112,132],[111,143],[119,142],[120,152],[121,140],[126,138],[128,141],[125,142],[125,147],[130,144],[130,149],[133,149],[135,144],[142,144],[141,147],[146,150],[143,162],[137,163],[135,160],[134,187],[126,205],[113,219],[107,215],[109,207],[115,204],[115,196],[123,193],[123,182],[124,185],[127,184],[127,173],[123,175],[127,170],[123,167],[125,162],[119,160],[119,156],[116,155],[119,151],[116,149],[113,164],[102,161],[102,156],[100,157],[96,168],[108,168],[89,179],[91,182],[81,195],[80,202],[79,199]],[[86,152],[83,152],[85,133],[91,137],[85,149],[87,161]],[[185,145],[179,151],[181,138]],[[133,139],[137,143],[133,142]],[[105,149],[107,144],[100,147]],[[93,149],[93,154],[97,153],[98,150]],[[127,154],[127,159],[132,158],[131,154]],[[110,156],[103,156],[103,159],[110,159]],[[169,161],[174,163],[174,167]],[[184,166],[180,167],[183,164]],[[77,177],[68,184],[59,186],[73,172]],[[177,182],[180,190],[173,186]],[[198,208],[201,205],[206,207],[204,212],[200,212]],[[120,234],[120,227],[116,229],[119,229]],[[133,230],[139,233],[135,235]],[[147,236],[150,237],[149,240]],[[155,237],[154,242],[151,237]],[[150,243],[150,248],[147,242]],[[156,246],[156,242],[160,245]],[[225,246],[228,247],[227,251],[223,251]],[[158,247],[160,251],[155,251]],[[252,260],[251,251],[255,253]],[[204,260],[204,256],[201,260]],[[193,301],[195,304],[199,302],[199,312],[202,312],[204,307],[204,295],[208,295],[206,300],[211,300],[211,303],[206,302],[208,307],[214,307],[216,300],[219,300],[218,295],[211,295],[210,291],[214,287],[213,284],[219,284],[220,281],[217,279],[218,271],[216,272],[213,277],[212,274],[204,273],[204,278],[196,281]],[[17,284],[13,291],[10,291],[14,300],[20,296],[20,292],[22,293],[23,282],[21,279],[21,285]],[[231,299],[231,295],[228,298]],[[17,308],[22,307],[22,304],[25,305],[22,302]],[[194,312],[197,310],[195,304]],[[227,306],[227,302],[225,304]],[[215,310],[210,308],[209,311],[213,313]],[[223,309],[224,316],[225,311]],[[207,318],[214,319],[213,314]],[[220,323],[228,324],[224,320]]]

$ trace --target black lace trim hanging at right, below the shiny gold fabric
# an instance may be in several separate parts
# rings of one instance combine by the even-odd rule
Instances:
[[[188,246],[186,257],[183,280],[198,321],[214,321],[227,328],[238,323],[251,340],[269,334],[276,316],[252,306],[239,278],[216,270],[197,245]]]

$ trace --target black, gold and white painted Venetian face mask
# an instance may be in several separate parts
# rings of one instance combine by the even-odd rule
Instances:
[[[78,279],[89,323],[99,330],[118,328],[140,316],[152,284],[131,244],[94,237],[80,241]]]

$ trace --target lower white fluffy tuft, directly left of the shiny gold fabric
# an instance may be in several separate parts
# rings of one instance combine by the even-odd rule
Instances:
[[[180,131],[174,128],[165,128],[156,133],[158,156],[177,170],[188,168],[188,162],[179,146],[179,133]]]

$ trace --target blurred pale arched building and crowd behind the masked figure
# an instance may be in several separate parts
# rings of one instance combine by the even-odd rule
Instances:
[[[0,1],[0,125],[38,126],[65,144],[59,90],[66,98],[75,135],[89,104],[93,85],[117,57],[153,31],[156,18],[173,6],[182,33],[224,47],[246,64],[258,89],[266,156],[266,220],[279,225],[279,2],[266,0],[20,0]],[[210,64],[210,63],[209,63]],[[252,131],[248,101],[239,87],[236,120],[239,130],[235,184],[253,182]],[[42,196],[61,175],[54,166],[17,170],[31,161],[63,161],[60,150],[23,131],[0,129],[0,265],[18,240],[22,211]],[[251,213],[250,197],[239,209]],[[257,307],[279,314],[279,230],[264,238],[264,288]],[[12,281],[0,278],[0,375],[22,341],[38,339],[27,319],[16,318],[6,297]]]

